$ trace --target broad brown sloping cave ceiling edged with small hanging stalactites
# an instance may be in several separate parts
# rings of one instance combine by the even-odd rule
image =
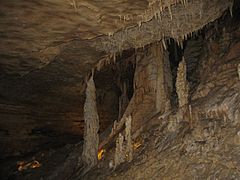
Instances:
[[[1,0],[1,103],[74,107],[100,60],[163,37],[180,42],[231,6],[232,0]]]

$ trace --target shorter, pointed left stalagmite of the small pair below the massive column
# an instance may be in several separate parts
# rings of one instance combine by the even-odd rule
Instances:
[[[125,160],[124,146],[123,146],[124,137],[119,133],[116,140],[116,149],[114,155],[114,169]]]

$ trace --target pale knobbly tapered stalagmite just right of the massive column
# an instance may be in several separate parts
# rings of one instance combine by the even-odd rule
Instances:
[[[176,90],[178,95],[179,108],[188,104],[188,82],[187,82],[187,66],[183,57],[179,63],[176,81]]]

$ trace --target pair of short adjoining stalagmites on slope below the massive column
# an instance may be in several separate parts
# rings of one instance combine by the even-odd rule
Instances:
[[[118,138],[116,140],[114,168],[116,168],[118,165],[125,161],[128,162],[132,161],[133,148],[132,148],[131,124],[132,117],[129,116],[126,118],[125,121],[125,135],[123,136],[121,133],[119,133]]]

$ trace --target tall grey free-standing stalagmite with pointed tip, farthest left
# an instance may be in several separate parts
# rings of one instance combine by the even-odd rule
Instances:
[[[99,144],[99,117],[97,113],[96,89],[93,75],[87,82],[86,100],[84,104],[84,121],[85,128],[82,160],[86,163],[88,168],[91,168],[97,164]]]

